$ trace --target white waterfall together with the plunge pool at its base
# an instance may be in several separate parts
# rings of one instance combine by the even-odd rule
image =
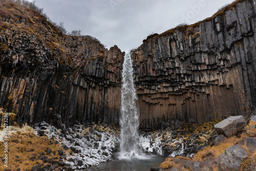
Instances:
[[[133,81],[132,57],[127,54],[123,61],[120,116],[120,152],[114,154],[113,162],[100,163],[91,171],[146,171],[164,158],[143,154],[138,144],[139,112],[137,94]]]

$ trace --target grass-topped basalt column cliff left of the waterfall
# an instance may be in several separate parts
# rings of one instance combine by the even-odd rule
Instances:
[[[17,123],[118,123],[123,52],[62,35],[46,18],[6,3],[1,15],[0,107]],[[54,124],[54,123],[53,123]],[[55,123],[56,124],[56,123]]]

